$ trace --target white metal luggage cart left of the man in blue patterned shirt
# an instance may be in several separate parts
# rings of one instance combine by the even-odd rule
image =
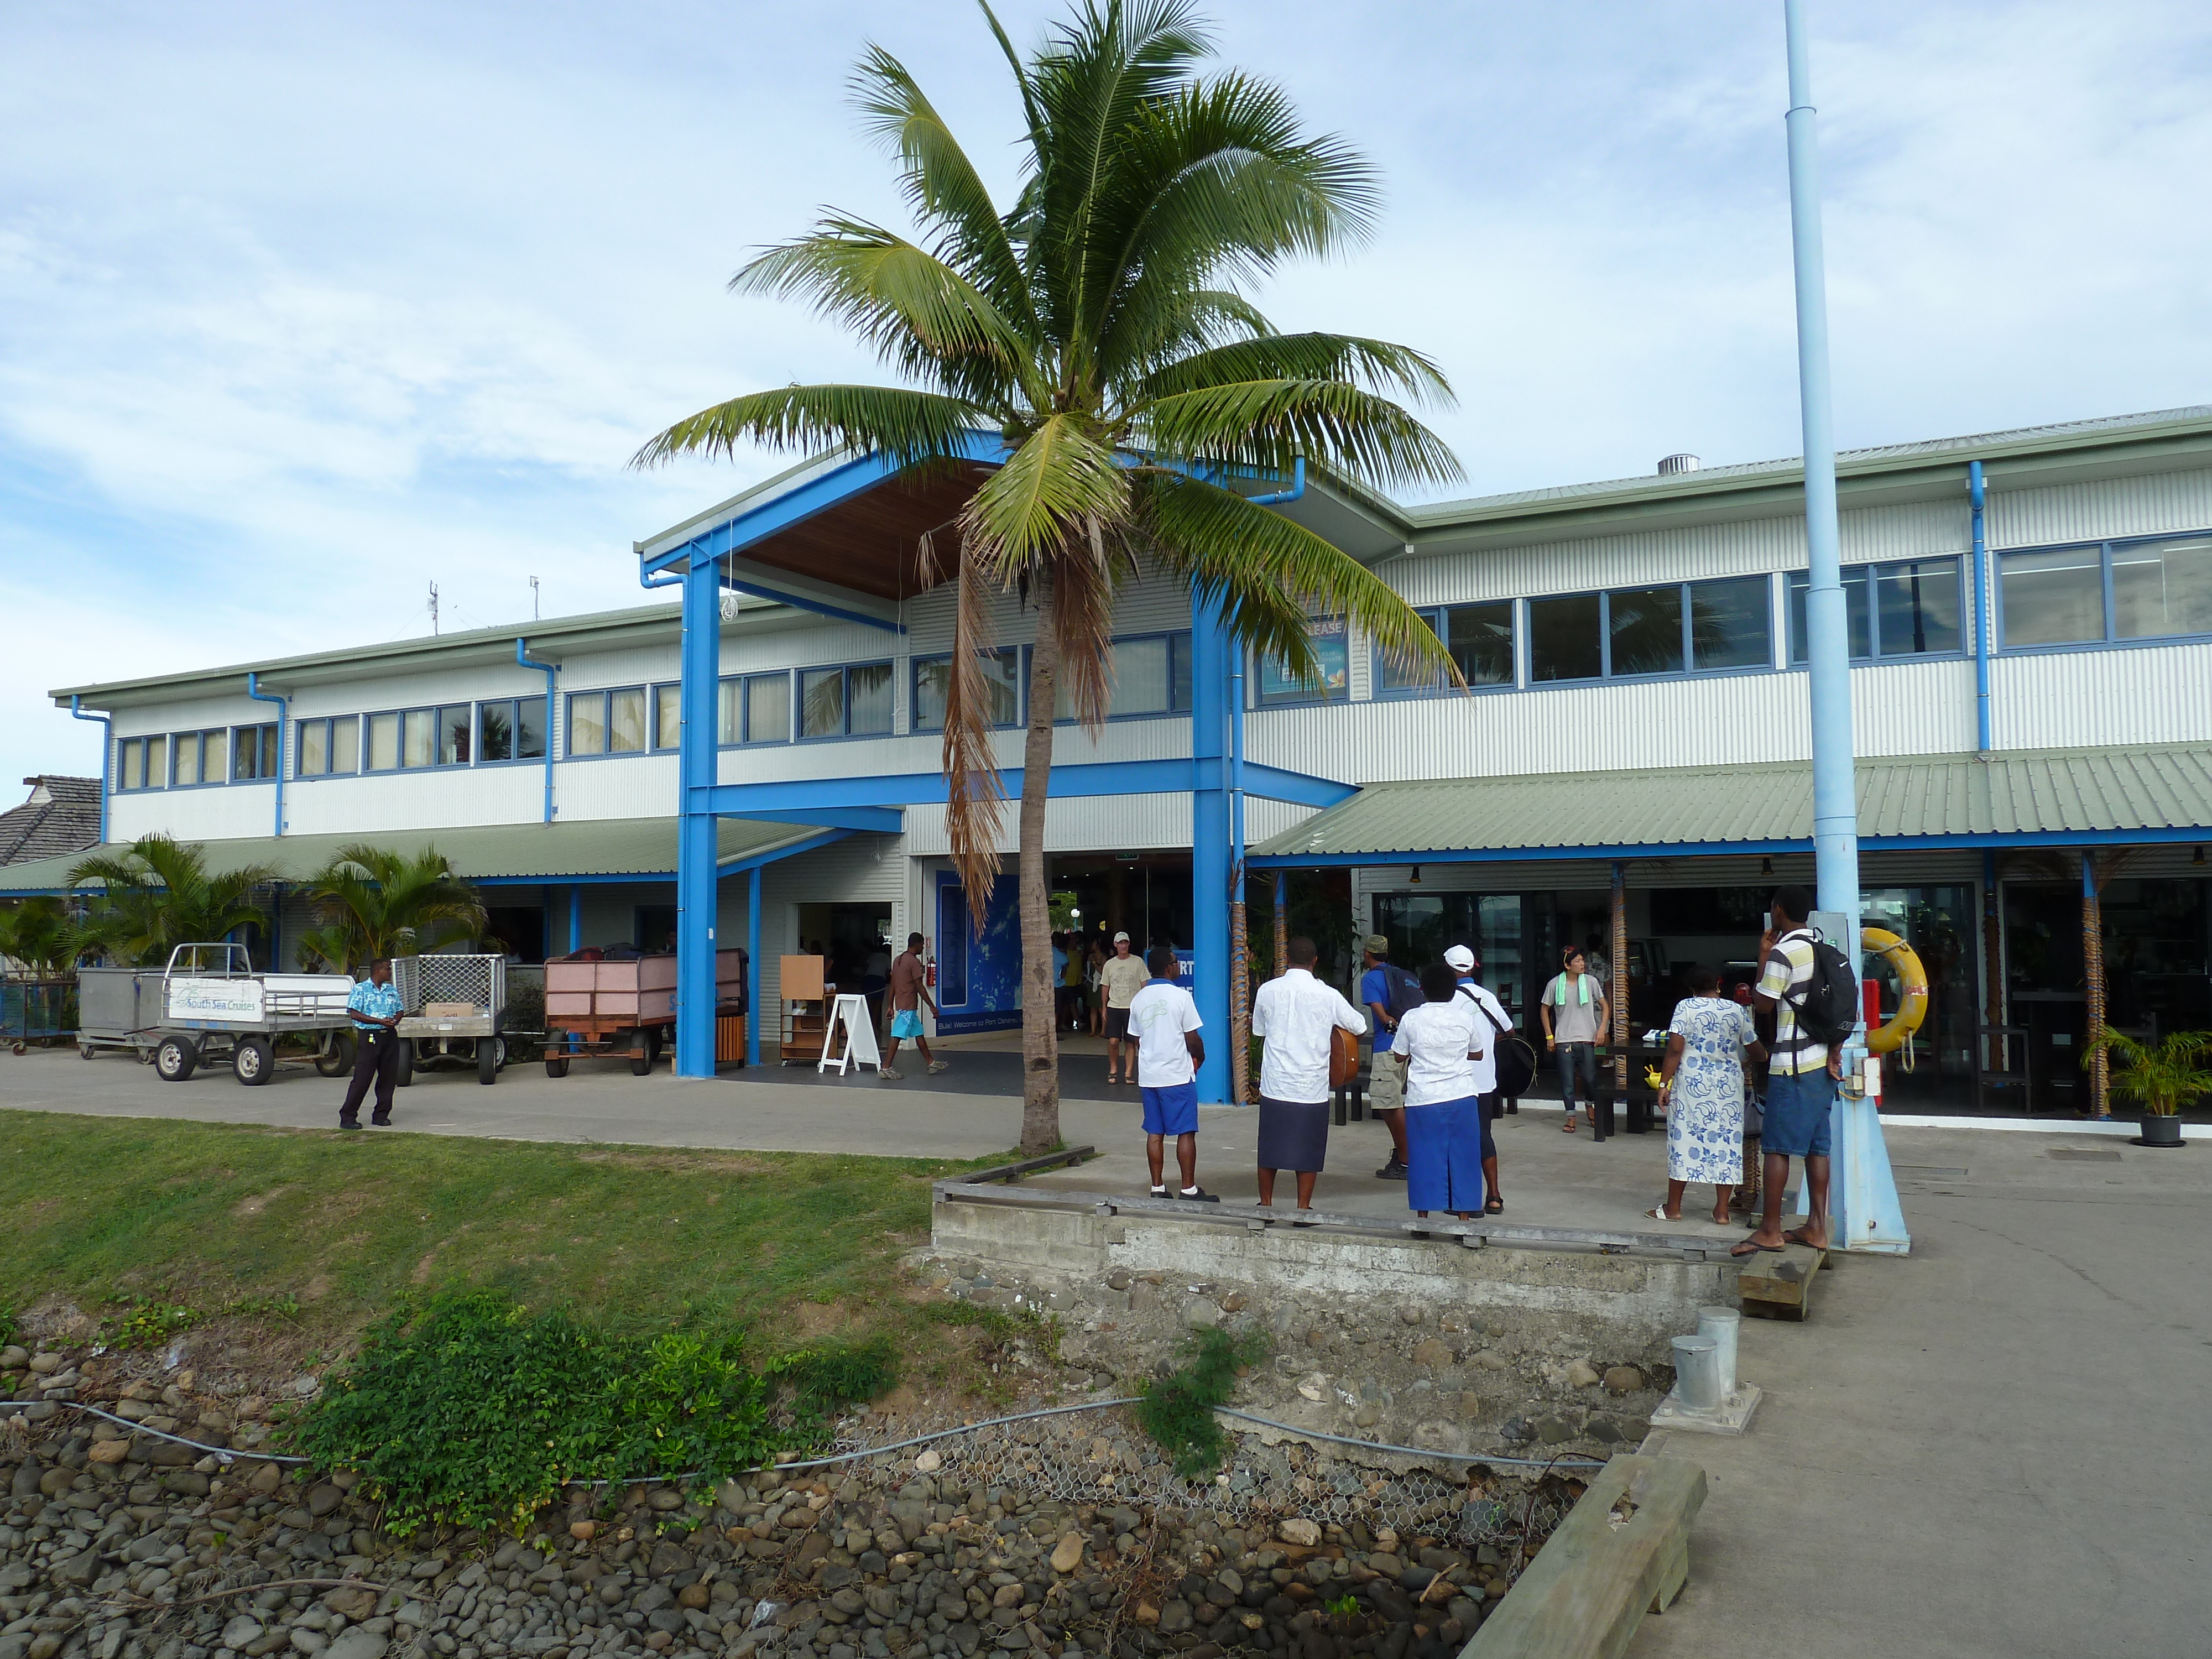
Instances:
[[[254,1088],[276,1071],[276,1037],[312,1035],[314,1068],[334,1077],[345,1068],[352,991],[345,973],[254,973],[243,945],[179,945],[159,975],[153,1068],[184,1082],[228,1060]]]

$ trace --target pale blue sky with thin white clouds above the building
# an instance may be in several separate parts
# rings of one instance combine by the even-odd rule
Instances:
[[[1812,9],[1843,445],[2212,400],[2212,7]],[[1383,166],[1374,243],[1263,301],[1436,354],[1455,493],[1796,453],[1776,0],[1210,15]],[[449,628],[644,602],[630,542],[781,462],[630,451],[872,372],[723,292],[896,217],[867,40],[1011,181],[956,0],[0,7],[4,787],[97,770],[51,686],[427,633],[431,582]]]

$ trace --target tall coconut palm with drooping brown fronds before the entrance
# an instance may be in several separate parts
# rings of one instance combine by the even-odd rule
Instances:
[[[1013,69],[1022,186],[993,206],[914,75],[872,46],[854,71],[865,124],[898,166],[920,237],[832,212],[770,248],[739,292],[794,294],[911,385],[754,392],[677,422],[635,458],[772,449],[874,451],[942,467],[975,431],[1004,462],[925,538],[925,575],[956,588],[945,699],[953,863],[975,916],[998,874],[1004,787],[991,757],[991,588],[1035,604],[1020,810],[1022,1146],[1060,1135],[1044,801],[1053,714],[1099,734],[1113,690],[1113,608],[1141,562],[1219,608],[1241,648],[1314,679],[1307,626],[1349,617],[1405,668],[1460,677],[1427,624],[1321,535],[1254,507],[1237,480],[1296,460],[1376,487],[1458,476],[1444,442],[1391,396],[1449,400],[1420,352],[1349,334],[1279,334],[1245,296],[1296,254],[1374,223],[1374,170],[1307,137],[1285,93],[1239,71],[1199,75],[1208,38],[1186,0],[1086,0]]]

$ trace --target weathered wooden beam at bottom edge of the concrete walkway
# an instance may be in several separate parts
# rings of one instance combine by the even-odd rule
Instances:
[[[1705,1471],[1628,1453],[1590,1480],[1462,1659],[1619,1659],[1646,1613],[1690,1582]]]

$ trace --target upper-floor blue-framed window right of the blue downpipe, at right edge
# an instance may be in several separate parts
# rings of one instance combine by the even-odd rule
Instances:
[[[2212,531],[1997,555],[2006,650],[2212,635]]]

